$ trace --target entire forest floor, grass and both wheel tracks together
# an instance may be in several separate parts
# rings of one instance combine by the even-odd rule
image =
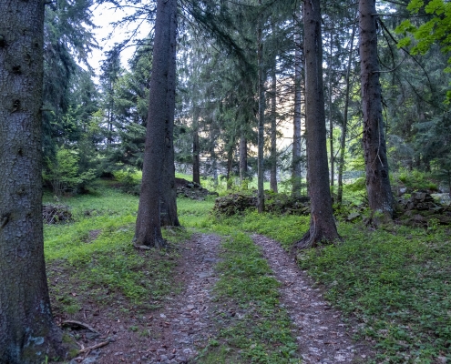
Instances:
[[[169,248],[141,250],[137,197],[61,203],[72,217],[46,224],[46,268],[72,364],[451,362],[449,227],[337,220],[340,242],[295,259],[309,217],[179,198]]]

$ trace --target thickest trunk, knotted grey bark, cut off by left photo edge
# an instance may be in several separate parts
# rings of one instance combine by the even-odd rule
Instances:
[[[36,364],[68,359],[44,261],[44,1],[0,1],[0,24],[0,363]]]

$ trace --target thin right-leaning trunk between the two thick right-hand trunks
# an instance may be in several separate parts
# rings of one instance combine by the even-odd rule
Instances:
[[[340,158],[338,160],[337,203],[339,205],[342,205],[342,200],[343,200],[344,150],[346,147],[346,134],[347,134],[347,127],[348,127],[348,109],[349,109],[349,99],[350,99],[350,93],[351,93],[350,80],[351,80],[351,66],[353,65],[354,36],[355,36],[355,25],[353,26],[353,33],[351,34],[351,40],[349,43],[349,58],[348,58],[348,65],[346,66],[346,91],[345,91],[345,95],[344,95],[342,136],[340,139]]]

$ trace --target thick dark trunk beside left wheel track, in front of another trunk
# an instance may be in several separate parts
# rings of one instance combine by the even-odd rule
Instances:
[[[169,74],[172,62],[171,37],[176,26],[177,0],[158,0],[155,21],[155,38],[153,47],[152,76],[149,87],[149,115],[146,131],[146,146],[142,169],[141,194],[139,197],[138,217],[134,242],[137,245],[163,248],[166,242],[161,236],[160,200],[163,197],[163,166],[165,154],[172,145],[168,140],[169,111],[171,99],[169,92]]]

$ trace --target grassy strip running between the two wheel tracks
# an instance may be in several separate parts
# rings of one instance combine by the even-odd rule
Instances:
[[[248,235],[231,228],[229,233],[214,288],[219,334],[210,339],[200,362],[300,363],[291,321],[279,304],[279,282]]]

